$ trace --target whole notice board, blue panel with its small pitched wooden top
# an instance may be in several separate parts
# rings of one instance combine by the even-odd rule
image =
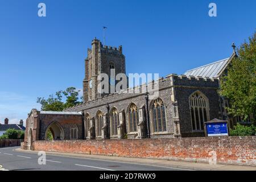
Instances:
[[[229,136],[228,121],[213,119],[212,121],[204,122],[205,136]]]

